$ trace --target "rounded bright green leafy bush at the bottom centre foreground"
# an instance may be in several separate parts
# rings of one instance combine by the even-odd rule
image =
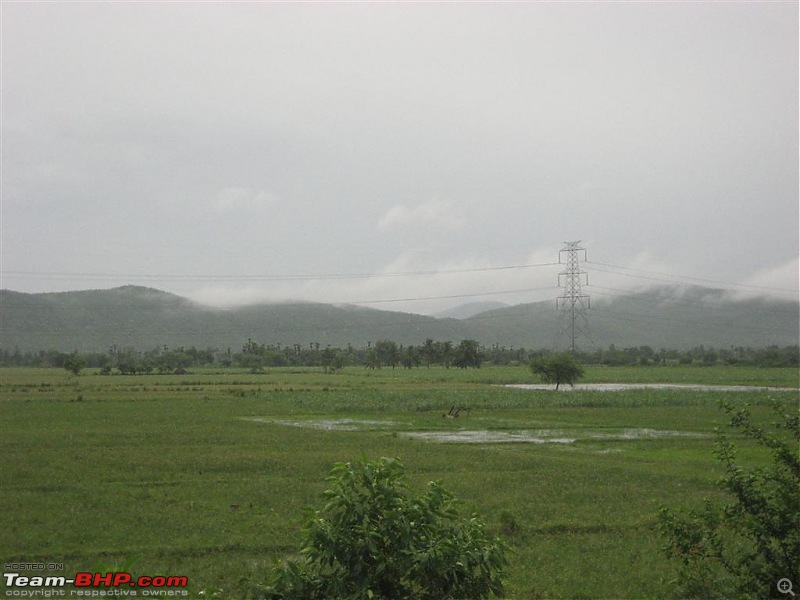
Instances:
[[[337,464],[327,502],[303,528],[301,558],[272,574],[255,597],[352,599],[488,598],[502,595],[505,547],[476,515],[431,482],[408,489],[395,459]]]

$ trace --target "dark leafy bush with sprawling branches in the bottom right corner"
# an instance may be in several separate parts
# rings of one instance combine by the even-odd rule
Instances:
[[[800,426],[798,412],[773,408],[781,422],[756,426],[747,407],[723,403],[730,425],[772,453],[768,467],[737,464],[731,442],[720,437],[715,453],[725,468],[722,488],[732,501],[706,502],[687,514],[664,508],[661,531],[667,552],[680,561],[681,595],[702,598],[786,597],[777,583],[800,581]]]

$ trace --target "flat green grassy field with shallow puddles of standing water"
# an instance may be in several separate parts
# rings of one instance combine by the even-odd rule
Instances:
[[[796,390],[798,372],[589,368],[583,381]],[[675,588],[658,508],[719,494],[714,430],[727,420],[718,400],[749,403],[762,421],[770,398],[798,403],[797,391],[498,385],[529,382],[522,367],[2,369],[0,556],[62,563],[53,573],[68,576],[115,567],[186,575],[193,596],[238,598],[243,577],[297,547],[303,508],[320,504],[335,462],[392,456],[416,486],[441,480],[506,539],[509,597],[662,598]],[[442,418],[453,405],[471,410]],[[744,463],[767,459],[739,444]]]

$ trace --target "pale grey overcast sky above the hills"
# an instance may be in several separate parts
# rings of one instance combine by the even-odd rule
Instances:
[[[797,2],[1,10],[0,287],[796,297]]]

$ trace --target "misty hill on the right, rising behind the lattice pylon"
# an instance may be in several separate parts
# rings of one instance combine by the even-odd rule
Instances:
[[[591,288],[587,288],[590,295]],[[686,349],[700,345],[793,346],[800,343],[800,304],[699,286],[659,286],[636,293],[591,298],[576,327],[587,331],[583,348],[652,346]],[[484,312],[466,321],[475,339],[528,348],[566,347],[570,317],[555,301],[521,304]]]

